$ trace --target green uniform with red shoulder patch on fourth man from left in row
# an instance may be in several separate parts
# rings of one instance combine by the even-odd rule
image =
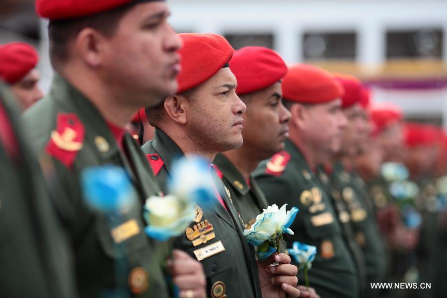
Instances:
[[[293,241],[317,247],[309,270],[310,286],[324,298],[358,297],[358,272],[336,213],[298,148],[287,140],[285,151],[263,161],[253,175],[269,204],[299,208],[290,227],[295,234],[286,240],[289,247]],[[304,280],[302,272],[298,278]]]

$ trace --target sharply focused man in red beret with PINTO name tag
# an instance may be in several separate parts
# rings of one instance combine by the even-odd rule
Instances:
[[[179,88],[163,104],[147,109],[156,129],[154,139],[142,147],[162,189],[176,156],[202,155],[210,160],[211,170],[217,153],[242,145],[245,105],[235,93],[236,78],[228,68],[233,49],[216,34],[179,36],[183,41]],[[278,254],[258,265],[228,189],[213,176],[216,199],[196,207],[195,223],[174,243],[203,264],[208,297],[285,297],[287,293],[298,297],[297,268],[290,265],[290,257]],[[281,264],[270,268],[274,261]]]

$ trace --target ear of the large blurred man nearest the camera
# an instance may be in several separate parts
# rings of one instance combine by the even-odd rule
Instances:
[[[89,67],[99,67],[106,58],[107,47],[105,37],[92,28],[84,28],[77,34],[74,41],[77,56]]]

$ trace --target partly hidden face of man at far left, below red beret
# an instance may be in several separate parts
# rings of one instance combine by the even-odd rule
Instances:
[[[44,96],[37,84],[39,79],[40,75],[37,70],[31,70],[20,81],[11,85],[12,94],[17,99],[22,111],[32,106]]]

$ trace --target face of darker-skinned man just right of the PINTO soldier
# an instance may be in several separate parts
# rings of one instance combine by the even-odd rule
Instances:
[[[282,103],[281,82],[241,98],[247,105],[243,114],[244,148],[262,159],[283,150],[291,114]]]

